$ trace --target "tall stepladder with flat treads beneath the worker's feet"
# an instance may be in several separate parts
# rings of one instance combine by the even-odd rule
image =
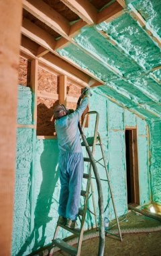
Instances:
[[[95,147],[97,145],[101,146],[101,152],[103,154],[103,158],[101,158],[101,159],[104,160],[104,164],[105,164],[104,167],[105,167],[105,170],[107,172],[107,164],[106,164],[105,155],[104,155],[104,152],[103,152],[103,144],[102,144],[102,141],[101,141],[101,137],[98,133],[99,113],[97,113],[97,111],[90,111],[90,112],[85,114],[82,129],[85,128],[85,123],[86,123],[87,117],[89,115],[95,115],[96,119],[95,119],[94,136],[87,138],[87,142],[88,142],[89,146],[92,148],[91,151],[92,151],[93,156],[95,154]],[[85,146],[85,144],[82,143],[82,146]],[[97,162],[99,163],[99,161],[97,161]],[[81,249],[81,245],[82,245],[82,241],[83,241],[84,224],[85,224],[85,217],[86,217],[86,213],[87,213],[87,205],[88,205],[88,200],[89,200],[90,189],[91,189],[91,194],[92,194],[92,198],[93,198],[93,209],[94,209],[94,215],[95,215],[95,224],[96,224],[96,228],[98,227],[96,207],[95,207],[95,198],[94,198],[94,191],[93,191],[93,183],[92,183],[92,180],[91,180],[92,164],[91,164],[90,158],[84,158],[84,162],[89,162],[89,172],[83,174],[83,179],[87,180],[87,187],[86,187],[85,191],[82,190],[81,193],[80,193],[80,195],[85,198],[84,207],[79,208],[79,211],[78,211],[78,218],[80,220],[80,228],[71,229],[71,228],[68,228],[67,226],[57,224],[56,230],[54,232],[54,238],[52,240],[52,245],[54,245],[54,247],[58,247],[58,248],[62,249],[62,251],[65,251],[66,253],[68,253],[69,255],[75,255],[75,256],[80,255],[80,249]],[[109,182],[108,172],[107,172],[107,181],[109,183],[109,188],[110,188],[110,192],[111,192],[111,185],[110,185],[110,182]],[[112,198],[112,201],[113,201],[112,193],[111,193],[111,198]],[[119,222],[118,222],[117,213],[116,213],[116,210],[115,210],[114,201],[113,201],[113,208],[114,208],[114,212],[115,212],[115,216],[116,216],[116,220],[117,220],[117,226],[119,228]],[[64,242],[62,239],[57,238],[60,228],[64,228],[65,230],[68,230],[69,232],[71,232],[72,234],[74,234],[78,237],[77,247],[72,247],[72,246],[68,245],[68,243]],[[122,240],[120,228],[119,228],[119,236],[120,236],[120,239]],[[50,253],[48,255],[52,256],[52,252],[53,252],[53,249],[50,251]]]

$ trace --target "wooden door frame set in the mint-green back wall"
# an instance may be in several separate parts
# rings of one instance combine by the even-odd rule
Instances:
[[[129,152],[129,159],[131,159],[130,168],[132,170],[132,180],[133,185],[133,202],[132,204],[140,205],[140,183],[139,183],[139,162],[138,162],[138,129],[137,127],[125,127],[125,131],[132,132],[132,141],[131,141],[131,148],[132,154]],[[129,141],[130,144],[130,141]],[[125,146],[126,150],[126,146]],[[126,157],[125,157],[126,158]],[[131,167],[132,166],[132,167]],[[131,170],[130,170],[131,172]],[[126,167],[126,189],[127,189],[127,167]]]

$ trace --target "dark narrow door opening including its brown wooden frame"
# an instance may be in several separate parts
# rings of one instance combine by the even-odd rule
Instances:
[[[125,129],[127,203],[140,204],[136,129]]]

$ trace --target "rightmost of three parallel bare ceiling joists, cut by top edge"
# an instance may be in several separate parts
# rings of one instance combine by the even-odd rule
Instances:
[[[96,21],[97,9],[87,0],[61,0],[87,24],[93,24]]]

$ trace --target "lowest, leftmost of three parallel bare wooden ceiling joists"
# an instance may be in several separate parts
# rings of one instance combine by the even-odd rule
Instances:
[[[50,51],[54,49],[56,44],[56,41],[48,32],[27,19],[23,19],[21,33]]]

